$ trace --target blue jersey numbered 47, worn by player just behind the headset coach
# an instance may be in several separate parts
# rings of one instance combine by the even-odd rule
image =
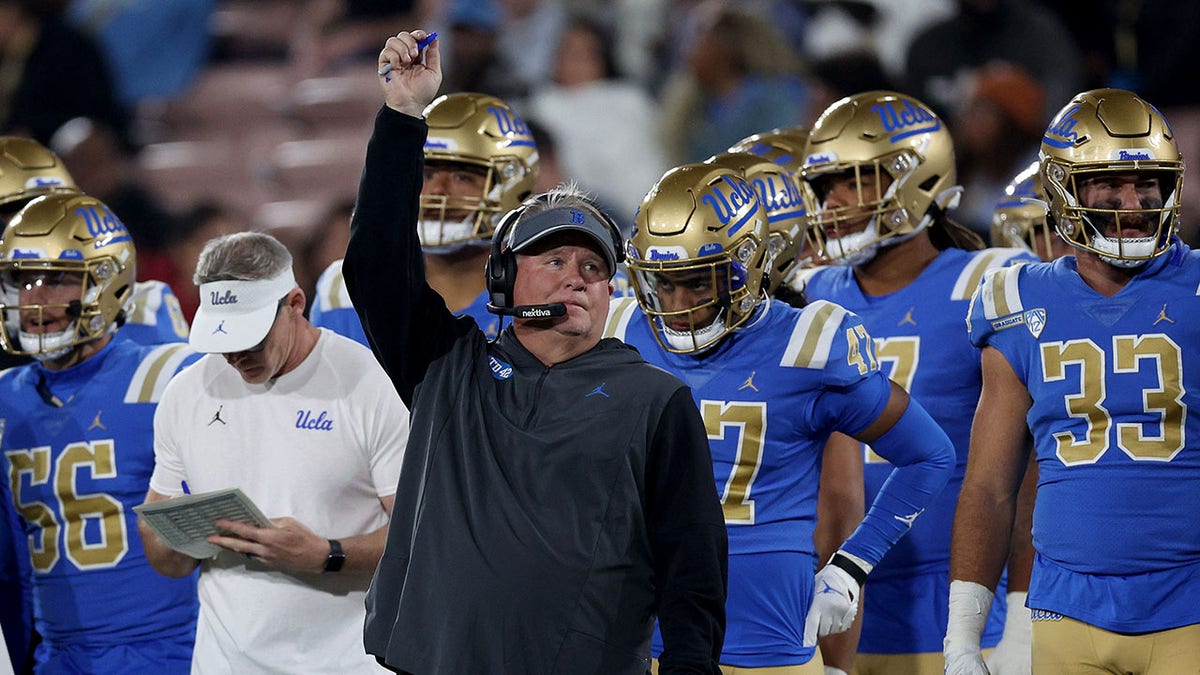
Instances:
[[[812,532],[824,443],[859,432],[887,404],[890,384],[862,322],[833,303],[804,310],[770,303],[703,354],[662,350],[634,298],[613,301],[606,335],[683,380],[708,428],[730,540],[721,663],[805,663],[812,597]],[[839,395],[853,392],[852,394]],[[661,653],[655,635],[654,653]]]

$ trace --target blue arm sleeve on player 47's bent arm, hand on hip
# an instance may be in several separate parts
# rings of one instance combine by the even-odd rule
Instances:
[[[908,399],[900,419],[871,448],[895,468],[841,550],[874,567],[950,479],[954,446],[925,408]]]

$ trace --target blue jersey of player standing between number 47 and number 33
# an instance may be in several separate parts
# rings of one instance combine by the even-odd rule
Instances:
[[[940,574],[948,579],[950,528],[962,477],[966,473],[971,420],[979,401],[982,374],[979,350],[967,338],[964,317],[971,294],[986,270],[1036,261],[1019,249],[964,251],[947,249],[938,253],[908,286],[888,295],[863,293],[848,267],[827,267],[806,271],[804,288],[810,300],[838,303],[862,317],[875,339],[875,354],[884,372],[929,411],[954,443],[954,476],[937,500],[917,519],[912,530],[883,556],[871,572],[865,593],[864,653],[924,653],[942,651],[949,597],[917,598],[913,592],[928,586],[906,579]],[[864,446],[863,474],[870,503],[892,472],[892,464]],[[895,592],[884,586],[895,585]],[[940,592],[940,591],[938,591]],[[949,593],[949,583],[946,583]],[[1003,589],[989,617],[983,645],[995,646],[1003,632]],[[870,611],[876,603],[887,609]],[[901,610],[900,605],[905,605]],[[934,608],[935,615],[920,611]]]

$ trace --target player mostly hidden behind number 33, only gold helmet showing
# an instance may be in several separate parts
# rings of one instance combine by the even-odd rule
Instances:
[[[1067,241],[1050,227],[1042,177],[1034,161],[1004,187],[1004,197],[991,216],[991,241],[997,246],[1028,249],[1050,262],[1074,255]]]

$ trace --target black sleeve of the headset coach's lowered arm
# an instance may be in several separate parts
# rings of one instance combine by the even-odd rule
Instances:
[[[647,462],[647,525],[664,643],[659,673],[719,675],[728,540],[704,423],[686,388],[664,407]]]

